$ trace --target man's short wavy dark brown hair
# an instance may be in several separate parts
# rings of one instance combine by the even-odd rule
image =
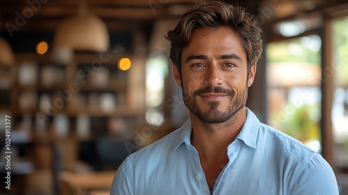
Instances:
[[[187,48],[192,32],[196,29],[216,29],[228,26],[235,30],[242,40],[248,71],[262,53],[261,29],[252,15],[244,8],[220,1],[203,3],[180,17],[177,26],[165,36],[171,42],[170,58],[177,66],[181,77],[182,50]]]

